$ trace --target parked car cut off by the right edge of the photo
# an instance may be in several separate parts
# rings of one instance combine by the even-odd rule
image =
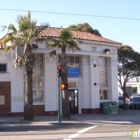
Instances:
[[[140,109],[140,96],[131,97],[128,107],[130,109]]]

